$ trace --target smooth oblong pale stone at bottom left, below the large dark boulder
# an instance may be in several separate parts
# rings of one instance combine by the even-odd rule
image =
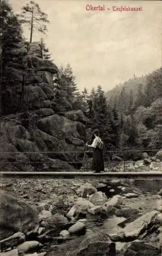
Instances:
[[[34,250],[34,249],[40,249],[42,248],[43,245],[40,244],[38,241],[26,241],[20,245],[17,246],[17,250],[19,253],[25,253],[28,252],[30,250]]]

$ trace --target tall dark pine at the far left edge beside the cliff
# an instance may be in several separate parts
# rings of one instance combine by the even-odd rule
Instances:
[[[26,52],[19,51],[22,42],[21,25],[14,15],[11,5],[3,0],[1,3],[1,108],[4,114],[15,111],[13,105],[11,106],[10,97],[12,97],[12,86],[19,83],[14,68],[21,69],[25,64]]]

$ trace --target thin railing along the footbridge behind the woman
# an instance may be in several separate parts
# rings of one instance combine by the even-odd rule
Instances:
[[[153,157],[159,150],[123,150],[104,151],[105,168],[111,171],[112,167],[120,164],[121,172],[127,172],[128,165],[133,161],[142,159],[145,153]],[[60,159],[58,159],[60,156]],[[61,160],[62,158],[62,160]],[[33,172],[68,171],[71,165],[76,171],[90,170],[92,151],[60,151],[60,152],[0,152],[1,171],[14,170],[28,171],[31,165]],[[145,158],[145,156],[143,156]],[[132,163],[133,165],[133,163]],[[142,165],[142,164],[141,164]]]

